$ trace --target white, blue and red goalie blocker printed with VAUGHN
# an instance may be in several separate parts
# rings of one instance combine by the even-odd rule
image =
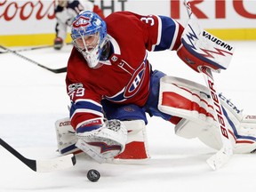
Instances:
[[[220,72],[227,69],[235,48],[199,26],[194,14],[181,36],[181,45],[177,54],[190,68],[201,72],[201,67]]]

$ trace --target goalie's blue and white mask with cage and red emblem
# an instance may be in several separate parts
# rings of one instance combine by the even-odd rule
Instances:
[[[95,42],[89,48],[86,36],[93,36]],[[71,37],[76,49],[81,52],[90,68],[97,68],[100,54],[108,42],[106,22],[98,14],[90,11],[80,12],[73,20]],[[78,42],[80,41],[80,44]],[[96,42],[97,41],[97,42]],[[81,46],[81,42],[83,43]]]

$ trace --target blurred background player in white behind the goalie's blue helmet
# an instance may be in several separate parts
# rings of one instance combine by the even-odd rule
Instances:
[[[83,10],[96,12],[100,15],[101,18],[105,18],[100,7],[98,5],[93,4],[90,1],[56,1],[56,7],[54,9],[54,12],[57,23],[55,26],[56,37],[54,39],[53,45],[55,50],[60,50],[62,48],[67,37],[68,27],[70,27],[76,15]]]

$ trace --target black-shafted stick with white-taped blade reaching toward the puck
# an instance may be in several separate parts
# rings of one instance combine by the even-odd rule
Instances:
[[[8,150],[13,156],[16,156],[23,164],[26,164],[34,172],[53,172],[72,167],[76,164],[76,156],[69,154],[59,156],[48,160],[28,159],[22,156],[17,150],[0,138],[0,145]]]

